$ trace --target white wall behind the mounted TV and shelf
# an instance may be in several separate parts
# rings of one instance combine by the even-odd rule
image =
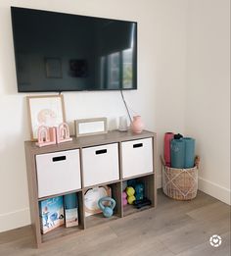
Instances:
[[[30,223],[23,141],[29,139],[25,95],[17,93],[10,6],[138,22],[138,90],[124,92],[146,128],[184,132],[185,0],[0,1],[0,231]],[[104,104],[102,104],[102,102]],[[102,117],[110,128],[125,114],[118,92],[65,93],[67,119]],[[160,175],[159,175],[160,178]]]

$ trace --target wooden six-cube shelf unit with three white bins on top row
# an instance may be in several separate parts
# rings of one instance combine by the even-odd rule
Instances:
[[[25,141],[31,224],[36,245],[63,238],[78,231],[105,224],[157,205],[157,135],[144,130],[109,131],[106,134],[73,138],[72,141],[37,147]],[[124,183],[135,179],[144,184],[144,194],[152,204],[142,209],[122,205]],[[111,218],[103,214],[85,216],[84,195],[90,188],[108,185],[116,206]],[[39,202],[76,193],[78,226],[61,226],[42,234]]]

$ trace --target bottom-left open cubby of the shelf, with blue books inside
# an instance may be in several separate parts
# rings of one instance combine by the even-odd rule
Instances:
[[[78,191],[39,201],[42,242],[58,239],[84,229],[82,199],[82,191]],[[71,203],[75,205],[72,208]]]

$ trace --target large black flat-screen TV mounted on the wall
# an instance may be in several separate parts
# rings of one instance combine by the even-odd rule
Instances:
[[[11,7],[19,92],[137,88],[135,22]]]

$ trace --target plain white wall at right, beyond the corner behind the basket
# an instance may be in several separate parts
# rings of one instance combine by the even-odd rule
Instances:
[[[230,1],[190,0],[186,132],[197,138],[199,187],[230,204]]]

